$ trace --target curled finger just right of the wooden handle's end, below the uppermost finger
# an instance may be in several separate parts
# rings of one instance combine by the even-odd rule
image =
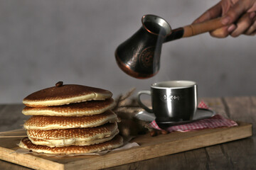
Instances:
[[[245,33],[248,28],[252,25],[252,19],[250,18],[250,13],[245,13],[236,24],[237,28],[233,30],[230,34],[232,37],[238,37],[242,33]]]

